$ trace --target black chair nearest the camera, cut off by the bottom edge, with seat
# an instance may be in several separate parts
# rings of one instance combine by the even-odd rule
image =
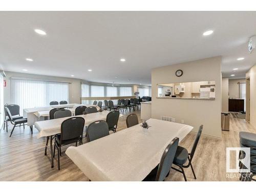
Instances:
[[[164,179],[168,177],[178,144],[179,138],[175,137],[165,148],[158,166],[156,166],[143,181],[164,181]]]

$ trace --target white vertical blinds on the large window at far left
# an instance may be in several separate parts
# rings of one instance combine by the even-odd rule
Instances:
[[[20,106],[20,114],[25,108],[47,106],[51,101],[69,102],[70,83],[41,80],[12,79],[11,101]]]

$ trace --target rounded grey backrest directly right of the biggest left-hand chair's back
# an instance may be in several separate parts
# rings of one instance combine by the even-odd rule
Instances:
[[[109,134],[109,125],[103,120],[90,123],[86,129],[86,137],[88,142],[105,137]]]

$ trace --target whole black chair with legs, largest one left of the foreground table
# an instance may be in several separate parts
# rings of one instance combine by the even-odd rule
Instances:
[[[54,142],[53,157],[55,156],[55,148],[58,151],[58,169],[60,169],[59,156],[61,156],[61,146],[71,143],[82,144],[82,133],[84,127],[84,119],[82,117],[72,117],[61,123],[60,134],[56,135]]]

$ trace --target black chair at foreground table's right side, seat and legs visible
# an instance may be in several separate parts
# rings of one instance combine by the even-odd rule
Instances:
[[[191,150],[191,153],[188,153],[186,148],[182,147],[182,146],[178,146],[177,148],[177,152],[175,154],[175,158],[174,158],[174,164],[179,166],[181,168],[181,170],[175,168],[175,167],[172,167],[174,170],[177,170],[177,172],[180,172],[183,174],[183,177],[185,179],[185,181],[187,181],[187,178],[186,178],[186,175],[185,175],[185,172],[184,172],[184,169],[183,168],[187,168],[187,167],[191,167],[192,169],[192,172],[193,172],[193,175],[194,175],[194,178],[197,179],[196,177],[196,174],[194,172],[194,169],[193,169],[193,166],[191,164],[191,161],[193,159],[193,156],[195,154],[195,151],[196,151],[196,148],[197,148],[197,144],[198,144],[198,141],[201,137],[201,134],[202,134],[202,131],[203,131],[203,125],[201,125],[199,127],[199,130],[198,130],[198,133],[197,133],[197,137],[195,139],[195,142],[193,144],[193,147],[192,147],[192,150]],[[186,161],[188,160],[188,164],[187,165],[184,165],[186,163]]]

